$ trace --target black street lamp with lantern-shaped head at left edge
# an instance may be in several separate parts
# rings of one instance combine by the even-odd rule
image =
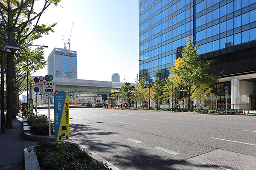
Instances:
[[[1,58],[1,133],[4,133],[4,125],[5,125],[5,117],[4,117],[4,79],[3,79],[3,70],[4,70],[4,59],[3,59],[3,53],[4,52],[11,52],[11,53],[21,53],[20,47],[12,41],[3,47],[3,50],[1,50],[2,58]]]

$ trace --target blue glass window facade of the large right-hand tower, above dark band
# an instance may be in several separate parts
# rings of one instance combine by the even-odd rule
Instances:
[[[168,77],[189,35],[200,59],[255,47],[256,0],[139,0],[140,75]]]

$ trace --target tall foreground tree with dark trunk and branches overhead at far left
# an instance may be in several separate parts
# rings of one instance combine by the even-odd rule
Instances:
[[[32,41],[43,34],[53,31],[56,23],[47,26],[40,24],[39,20],[50,5],[57,6],[61,0],[2,0],[0,1],[0,48],[14,40],[23,49],[26,44],[32,45]],[[41,7],[36,8],[39,5]],[[16,57],[16,58],[15,58]],[[7,113],[6,127],[12,128],[12,114],[15,113],[15,60],[20,55],[8,53],[6,57],[6,89],[7,89]],[[17,106],[16,106],[17,107]]]

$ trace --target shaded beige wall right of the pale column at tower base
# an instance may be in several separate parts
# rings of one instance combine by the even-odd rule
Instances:
[[[253,83],[252,82],[247,82],[247,81],[242,81],[240,80],[240,103],[239,104],[244,104],[244,109],[251,109],[251,98],[250,95],[253,95]]]

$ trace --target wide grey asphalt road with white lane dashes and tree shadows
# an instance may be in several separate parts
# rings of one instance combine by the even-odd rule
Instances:
[[[256,170],[256,116],[70,108],[70,137],[121,170]]]

